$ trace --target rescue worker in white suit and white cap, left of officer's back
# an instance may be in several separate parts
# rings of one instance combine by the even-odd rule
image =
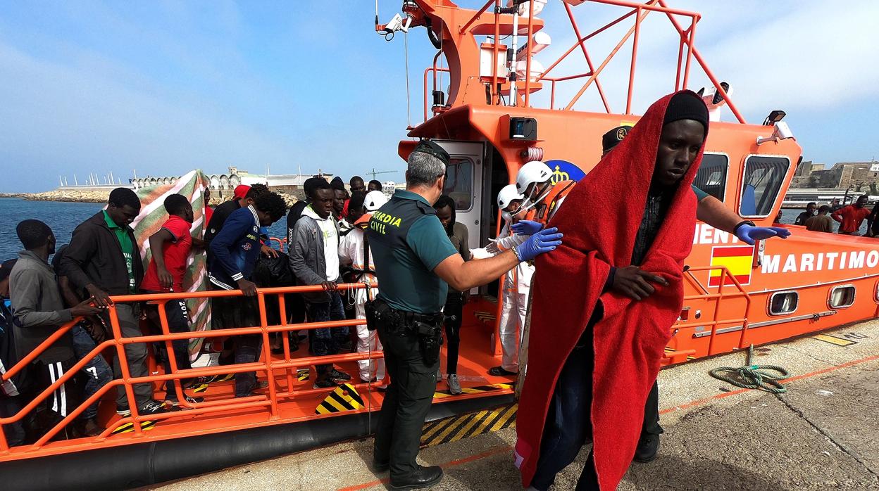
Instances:
[[[369,191],[362,201],[358,199],[360,196],[352,196],[348,204],[349,217],[353,219],[354,227],[339,242],[338,258],[339,264],[343,267],[349,266],[353,270],[353,281],[372,285],[376,283],[375,275],[372,272],[375,271],[375,263],[364,240],[366,237],[364,229],[373,216],[372,213],[387,203],[388,197],[381,191]],[[365,267],[367,263],[364,260],[364,252],[369,256],[368,269]],[[348,298],[353,301],[354,314],[358,319],[367,318],[364,304],[367,300],[374,299],[375,295],[378,294],[378,288],[370,288],[369,290],[370,292],[367,292],[366,288],[362,288],[348,291]],[[367,329],[366,324],[357,326],[357,352],[367,353],[381,350],[381,341],[379,341],[377,331]],[[357,365],[360,368],[360,380],[364,383],[376,380],[381,382],[385,378],[383,358],[359,360]]]

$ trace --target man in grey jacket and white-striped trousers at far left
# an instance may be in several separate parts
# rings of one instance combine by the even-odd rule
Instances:
[[[24,220],[16,227],[18,240],[25,250],[18,253],[18,262],[12,268],[9,286],[12,307],[13,332],[18,359],[31,354],[41,343],[74,318],[98,314],[92,300],[65,308],[57,278],[48,257],[54,254],[55,238],[52,229],[40,220]],[[73,340],[68,330],[34,360],[40,375],[38,392],[53,385],[76,363]],[[75,405],[65,390],[65,382],[58,386],[47,400],[47,409],[64,417]]]

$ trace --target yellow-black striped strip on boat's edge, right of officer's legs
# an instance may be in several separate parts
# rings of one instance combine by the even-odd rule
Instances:
[[[519,404],[511,404],[428,422],[422,430],[421,446],[447,444],[461,438],[476,437],[476,435],[510,428],[516,425],[518,409]]]

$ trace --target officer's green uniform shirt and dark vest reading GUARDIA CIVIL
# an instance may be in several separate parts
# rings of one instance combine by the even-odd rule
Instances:
[[[446,304],[447,284],[433,268],[458,251],[427,200],[411,191],[396,191],[373,213],[367,239],[379,298],[398,310],[438,313]]]

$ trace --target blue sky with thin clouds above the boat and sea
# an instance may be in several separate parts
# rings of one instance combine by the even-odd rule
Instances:
[[[381,0],[382,21],[400,4]],[[869,37],[879,3],[671,4],[701,11],[697,46],[733,84],[747,119],[786,110],[807,160],[879,156],[879,52]],[[575,12],[588,14],[580,13],[584,29],[586,17],[613,13],[591,5]],[[541,17],[554,42],[537,58],[551,60],[570,46],[570,25],[558,0]],[[46,191],[59,174],[72,184],[74,174],[82,182],[89,172],[127,179],[133,170],[163,176],[236,165],[263,172],[268,164],[272,173],[322,169],[346,178],[400,170],[403,36],[386,42],[373,22],[370,0],[4,2],[0,191]],[[665,23],[653,22],[642,32],[656,41],[639,54],[636,112],[671,89],[654,81],[667,80],[660,77],[677,43]],[[616,40],[608,32],[587,46],[600,60]],[[413,123],[421,120],[421,74],[432,54],[424,30],[411,32]],[[606,86],[626,83],[624,65],[608,65]],[[694,88],[701,83],[694,76]],[[621,92],[611,91],[621,108]],[[595,109],[595,102],[587,95],[578,108]],[[381,178],[402,180],[403,173]]]

